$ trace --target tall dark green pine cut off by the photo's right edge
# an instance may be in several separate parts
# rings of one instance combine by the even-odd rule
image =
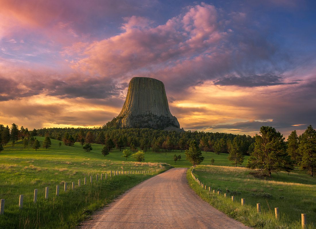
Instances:
[[[299,163],[300,168],[306,169],[307,173],[314,176],[316,172],[316,130],[311,125],[301,135],[298,150],[302,157],[302,161]]]

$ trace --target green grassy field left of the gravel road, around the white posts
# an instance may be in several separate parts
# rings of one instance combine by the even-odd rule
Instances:
[[[42,143],[44,138],[37,137]],[[5,199],[4,215],[0,216],[0,228],[75,228],[95,209],[110,203],[127,189],[156,175],[119,175],[100,180],[100,174],[110,170],[151,170],[159,168],[157,163],[124,161],[117,153],[117,160],[101,155],[101,146],[93,145],[93,152],[85,152],[76,143],[74,147],[58,146],[52,140],[49,149],[37,151],[24,149],[21,141],[14,147],[5,146],[0,153],[0,198]],[[110,153],[111,155],[112,153]],[[109,156],[110,156],[109,155]],[[163,170],[161,170],[163,171]],[[159,172],[161,172],[159,171]],[[96,181],[96,174],[99,180]],[[90,183],[90,175],[93,182]],[[87,185],[84,185],[87,177]],[[81,179],[81,187],[78,187]],[[64,192],[64,182],[68,183]],[[75,190],[71,182],[76,184]],[[56,197],[59,185],[59,197]],[[45,187],[49,187],[49,198],[45,200]],[[38,201],[33,203],[34,189],[38,189]],[[19,195],[24,195],[23,209],[18,209]]]

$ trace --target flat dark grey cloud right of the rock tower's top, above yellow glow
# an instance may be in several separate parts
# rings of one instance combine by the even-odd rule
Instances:
[[[239,87],[261,87],[261,86],[273,86],[284,84],[297,84],[301,80],[295,80],[292,82],[284,81],[284,77],[276,76],[270,73],[263,75],[252,75],[245,77],[228,76],[214,81],[215,85],[221,86],[239,86]]]

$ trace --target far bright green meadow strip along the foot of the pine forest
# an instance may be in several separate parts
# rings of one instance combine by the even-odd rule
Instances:
[[[44,140],[44,137],[36,137],[42,146],[42,142]],[[0,153],[0,159],[1,157],[14,157],[14,158],[47,158],[48,162],[53,160],[53,158],[59,158],[61,160],[66,161],[76,161],[79,162],[82,160],[89,160],[89,163],[93,163],[93,160],[102,160],[102,161],[127,161],[127,162],[135,162],[136,160],[134,158],[127,158],[127,160],[122,156],[122,151],[119,151],[119,149],[113,149],[109,155],[104,157],[101,154],[102,145],[100,144],[92,144],[93,150],[90,152],[86,152],[82,149],[82,146],[79,142],[76,142],[74,146],[65,146],[62,142],[62,145],[59,147],[58,143],[60,141],[53,140],[52,141],[52,147],[48,149],[43,149],[41,147],[37,151],[32,149],[31,146],[26,147],[24,149],[24,146],[22,145],[22,141],[19,141],[18,143],[15,143],[15,146],[12,147],[11,145],[7,145],[4,147],[4,151]],[[130,149],[130,147],[125,147],[126,149]],[[180,161],[174,162],[173,161],[173,155],[181,155]],[[32,155],[32,156],[30,156]],[[204,158],[204,161],[201,163],[202,165],[208,165],[211,164],[211,159],[214,158],[215,162],[214,165],[223,165],[223,166],[232,166],[232,163],[228,161],[227,153],[221,153],[220,155],[215,154],[214,152],[202,152],[202,155]],[[247,163],[248,156],[245,156],[244,163],[241,166],[245,166]],[[189,168],[192,165],[185,160],[185,151],[180,150],[174,150],[172,152],[165,152],[164,150],[160,149],[159,153],[148,151],[145,153],[145,162],[166,162],[168,164],[171,164],[173,167],[186,167]]]

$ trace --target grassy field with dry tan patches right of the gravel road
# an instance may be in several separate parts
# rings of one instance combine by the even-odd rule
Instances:
[[[307,228],[316,228],[316,178],[303,173],[285,172],[272,174],[271,179],[249,175],[245,168],[226,166],[197,166],[193,174],[216,194],[202,189],[191,177],[190,186],[205,201],[227,215],[255,228],[301,228],[301,213],[307,214]],[[218,196],[217,191],[222,195]],[[224,198],[224,193],[228,194]],[[232,203],[231,196],[235,196]],[[241,206],[241,198],[246,205]],[[261,204],[261,214],[256,204]],[[279,220],[274,208],[279,208]]]

